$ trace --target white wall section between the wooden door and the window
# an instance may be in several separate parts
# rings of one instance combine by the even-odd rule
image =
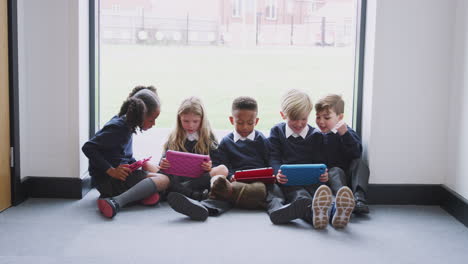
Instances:
[[[88,1],[20,0],[18,31],[21,177],[80,177],[88,135]]]

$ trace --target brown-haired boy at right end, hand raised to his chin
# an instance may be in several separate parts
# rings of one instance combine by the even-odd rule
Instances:
[[[336,193],[350,186],[355,197],[354,212],[369,213],[366,202],[369,168],[361,160],[362,145],[359,136],[343,122],[344,101],[330,94],[315,104],[316,123],[323,133],[322,154],[330,168],[330,187]]]

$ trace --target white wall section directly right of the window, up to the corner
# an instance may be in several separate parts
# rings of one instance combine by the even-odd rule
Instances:
[[[372,183],[444,182],[453,3],[369,1],[363,130]]]

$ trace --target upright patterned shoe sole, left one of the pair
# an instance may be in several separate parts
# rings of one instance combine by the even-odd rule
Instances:
[[[315,192],[312,200],[312,211],[314,213],[312,224],[316,229],[327,227],[329,221],[329,210],[332,203],[332,192],[326,185],[320,186]]]

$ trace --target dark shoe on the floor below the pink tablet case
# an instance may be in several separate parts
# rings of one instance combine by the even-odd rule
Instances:
[[[167,196],[167,202],[176,212],[184,214],[192,220],[205,221],[208,218],[208,209],[199,201],[190,199],[183,194],[171,192]]]

